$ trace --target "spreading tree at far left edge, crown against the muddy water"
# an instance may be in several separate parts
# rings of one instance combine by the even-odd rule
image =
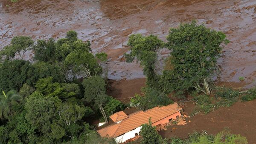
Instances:
[[[26,51],[31,50],[33,45],[34,41],[31,39],[31,37],[13,37],[11,40],[11,45],[4,47],[0,52],[0,55],[6,56],[6,59],[13,59],[15,54],[18,53],[20,58],[23,59]]]

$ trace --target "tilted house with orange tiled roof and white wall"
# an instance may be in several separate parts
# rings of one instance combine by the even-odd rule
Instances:
[[[148,124],[148,119],[151,118],[153,126],[166,124],[172,119],[177,119],[181,116],[181,108],[177,103],[163,107],[154,107],[149,110],[140,110],[130,115],[126,115],[123,111],[119,111],[110,116],[114,124],[97,130],[100,136],[115,138],[117,143],[125,142],[126,140],[140,135],[142,124]]]

